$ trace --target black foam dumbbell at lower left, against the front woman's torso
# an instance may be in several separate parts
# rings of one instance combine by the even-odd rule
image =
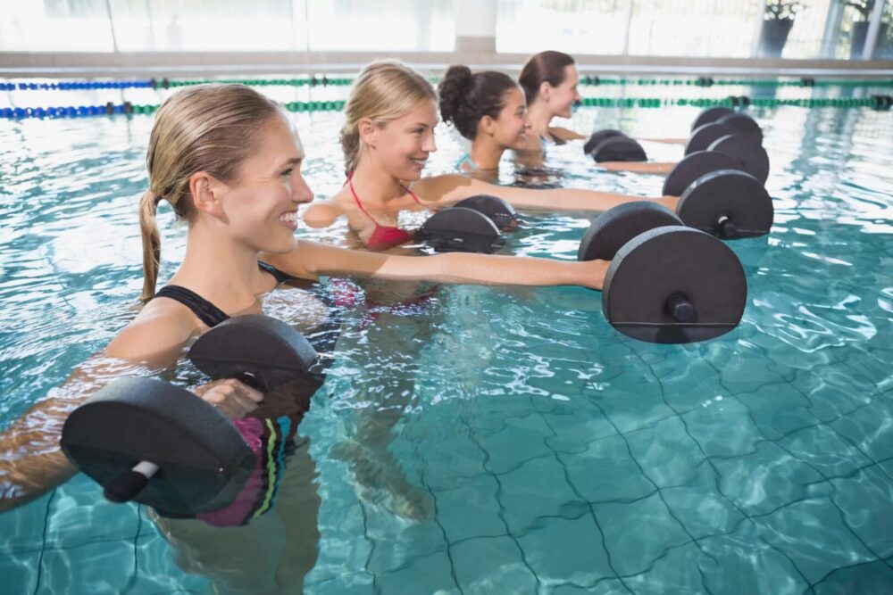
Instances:
[[[271,408],[303,415],[322,381],[304,335],[263,315],[214,326],[189,359],[207,376],[238,378],[265,393],[253,417],[275,417]],[[229,418],[186,389],[150,378],[116,380],[90,397],[66,420],[61,445],[106,498],[136,500],[164,516],[226,507],[255,466]]]

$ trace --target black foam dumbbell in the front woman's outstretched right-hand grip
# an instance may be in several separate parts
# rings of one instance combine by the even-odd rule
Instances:
[[[606,211],[577,258],[611,260],[602,310],[614,328],[641,341],[706,341],[738,326],[744,313],[747,279],[735,253],[654,202]]]

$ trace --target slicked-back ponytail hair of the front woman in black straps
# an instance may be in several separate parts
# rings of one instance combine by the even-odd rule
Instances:
[[[154,297],[161,260],[158,203],[170,202],[177,219],[191,221],[189,178],[206,171],[223,182],[238,181],[242,163],[256,152],[265,128],[281,117],[278,103],[244,85],[183,88],[159,108],[146,152],[149,189],[139,201],[143,302]]]

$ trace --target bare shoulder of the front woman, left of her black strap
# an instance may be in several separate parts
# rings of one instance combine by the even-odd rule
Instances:
[[[186,306],[168,298],[148,302],[106,348],[108,355],[140,361],[169,359],[196,333],[199,322]]]

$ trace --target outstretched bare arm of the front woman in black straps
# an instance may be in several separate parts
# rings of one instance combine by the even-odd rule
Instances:
[[[299,277],[348,275],[465,285],[580,285],[601,289],[610,262],[577,262],[520,256],[452,252],[396,256],[300,241],[288,254],[266,257]]]

